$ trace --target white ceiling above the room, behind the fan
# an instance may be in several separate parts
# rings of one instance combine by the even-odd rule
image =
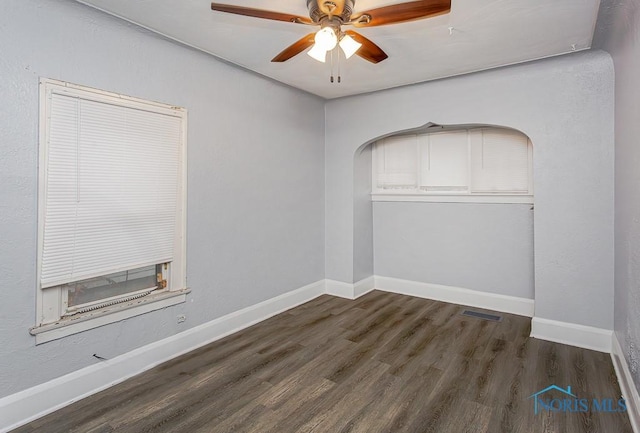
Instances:
[[[446,15],[358,29],[389,58],[377,65],[357,56],[343,58],[342,82],[332,84],[330,65],[304,53],[270,62],[312,27],[213,12],[208,0],[78,1],[324,98],[588,49],[599,6],[599,0],[452,0]],[[306,0],[216,2],[308,16]],[[394,3],[402,0],[356,0],[354,9]]]

